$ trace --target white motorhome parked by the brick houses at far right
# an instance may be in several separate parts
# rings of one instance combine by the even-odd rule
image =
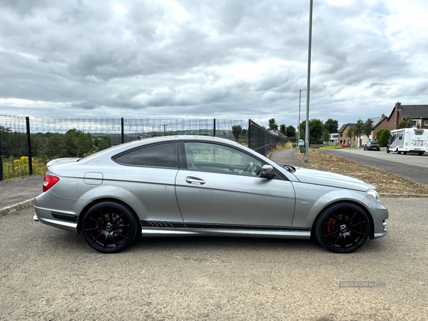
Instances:
[[[391,131],[391,138],[387,146],[387,153],[418,153],[427,151],[428,129],[402,128]]]

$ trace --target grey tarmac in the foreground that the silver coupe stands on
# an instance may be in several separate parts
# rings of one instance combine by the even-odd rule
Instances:
[[[389,235],[348,255],[250,238],[103,255],[21,210],[0,218],[0,320],[426,320],[428,200],[383,201]]]

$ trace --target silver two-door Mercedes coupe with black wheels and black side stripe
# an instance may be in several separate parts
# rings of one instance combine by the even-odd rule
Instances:
[[[388,210],[357,178],[278,165],[215,137],[133,141],[48,163],[34,220],[82,233],[102,253],[136,238],[311,236],[336,253],[387,235]]]

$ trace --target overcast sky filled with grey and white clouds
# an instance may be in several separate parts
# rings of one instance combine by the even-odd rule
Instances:
[[[1,0],[0,115],[306,118],[310,0]],[[309,118],[428,104],[428,0],[313,0]],[[303,90],[303,91],[300,91]]]

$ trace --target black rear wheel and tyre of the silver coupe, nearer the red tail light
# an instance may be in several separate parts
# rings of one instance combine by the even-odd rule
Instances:
[[[102,201],[83,216],[82,233],[91,248],[101,253],[117,253],[133,243],[137,226],[128,206],[113,200]]]

